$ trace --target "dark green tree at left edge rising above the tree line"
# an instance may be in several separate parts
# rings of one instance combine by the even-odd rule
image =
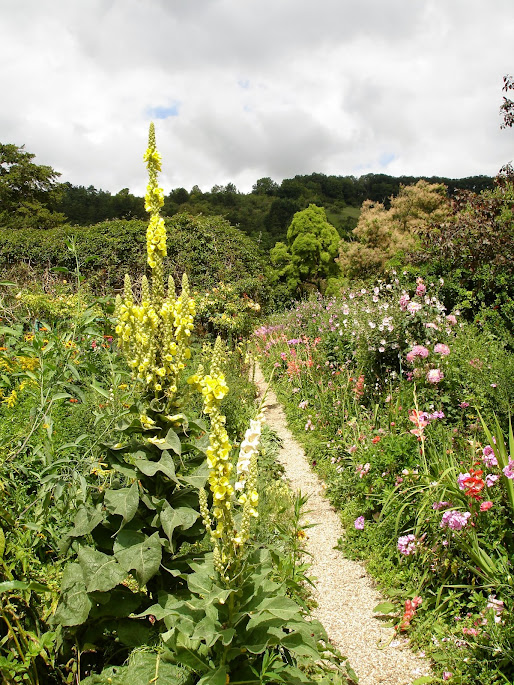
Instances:
[[[53,211],[59,199],[57,178],[49,166],[34,164],[35,155],[0,143],[0,225],[8,228],[53,228],[65,216]]]

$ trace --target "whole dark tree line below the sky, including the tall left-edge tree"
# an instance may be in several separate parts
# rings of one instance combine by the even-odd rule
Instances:
[[[112,194],[94,186],[59,183],[60,174],[33,162],[23,146],[0,144],[0,226],[5,228],[51,228],[63,223],[88,226],[112,219],[146,219],[144,199],[128,188]],[[163,214],[220,215],[253,238],[264,250],[284,241],[296,212],[314,204],[325,208],[327,218],[341,237],[350,235],[365,200],[387,208],[401,186],[413,185],[419,176],[365,174],[355,176],[312,173],[280,183],[270,177],[258,179],[249,193],[233,183],[215,185],[203,192],[175,188],[165,197]],[[481,192],[493,187],[488,176],[461,179],[425,177],[444,183],[448,193]]]

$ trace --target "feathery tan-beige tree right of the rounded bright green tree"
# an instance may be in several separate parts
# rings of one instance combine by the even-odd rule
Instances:
[[[350,277],[370,276],[384,269],[395,255],[410,252],[419,244],[418,234],[450,214],[446,186],[418,181],[401,186],[391,206],[366,200],[352,233],[355,242],[342,241],[338,263]]]

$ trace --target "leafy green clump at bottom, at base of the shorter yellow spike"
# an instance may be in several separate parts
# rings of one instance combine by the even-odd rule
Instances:
[[[230,682],[310,683],[297,664],[320,658],[321,625],[306,621],[285,588],[271,580],[267,551],[254,552],[223,587],[210,556],[191,563],[188,592],[162,593],[147,614],[164,620],[176,658],[201,674],[198,685]]]

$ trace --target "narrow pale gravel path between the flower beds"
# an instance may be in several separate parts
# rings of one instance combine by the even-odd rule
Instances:
[[[267,388],[256,366],[255,382],[262,396]],[[383,601],[362,564],[346,559],[335,549],[344,535],[338,514],[323,495],[318,476],[311,471],[302,447],[287,428],[282,407],[271,388],[264,406],[265,421],[282,441],[279,460],[294,491],[309,495],[307,551],[312,555],[310,574],[316,580],[313,615],[325,627],[332,644],[346,655],[360,685],[410,685],[429,675],[428,662],[409,649],[394,629],[374,618],[373,608]],[[379,647],[381,645],[381,647]]]

